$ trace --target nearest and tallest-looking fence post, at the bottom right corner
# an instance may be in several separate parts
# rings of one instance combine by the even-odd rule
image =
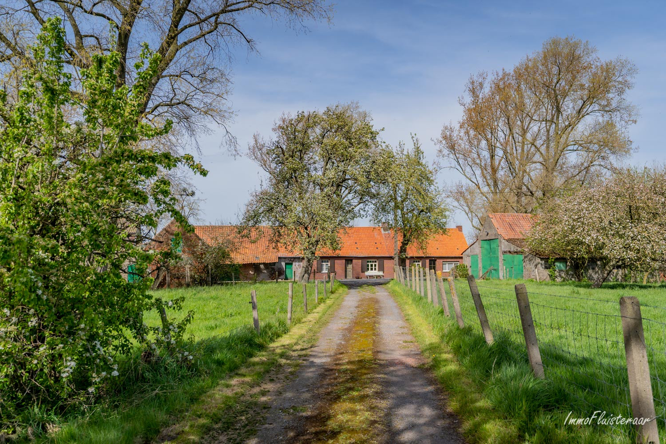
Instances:
[[[647,361],[645,333],[643,332],[643,318],[638,299],[633,296],[620,298],[620,316],[622,318],[625,354],[627,355],[631,413],[637,421],[640,419],[647,420],[643,425],[636,424],[636,442],[659,444],[650,367]]]

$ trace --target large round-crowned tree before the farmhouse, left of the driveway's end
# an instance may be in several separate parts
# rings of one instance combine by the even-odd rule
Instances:
[[[362,214],[372,194],[378,131],[358,105],[284,114],[275,138],[258,134],[249,156],[266,183],[246,205],[242,224],[267,224],[271,240],[304,258],[307,282],[321,249],[340,248],[340,229]]]

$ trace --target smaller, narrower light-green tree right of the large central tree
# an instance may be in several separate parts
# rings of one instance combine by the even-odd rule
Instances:
[[[448,210],[428,166],[421,144],[412,136],[412,150],[400,144],[384,150],[376,168],[372,220],[388,224],[394,234],[394,262],[406,265],[408,246],[425,247],[434,234],[446,232]]]

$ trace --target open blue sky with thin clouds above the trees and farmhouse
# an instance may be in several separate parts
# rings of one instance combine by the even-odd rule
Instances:
[[[431,139],[460,118],[470,75],[510,69],[549,37],[574,35],[604,59],[635,63],[629,99],[641,116],[630,132],[639,148],[630,162],[666,161],[666,2],[341,0],[334,8],[330,25],[307,23],[306,33],[258,15],[244,21],[258,53],[239,48],[232,64],[236,116],[228,128],[241,150],[255,132],[270,136],[282,112],[358,101],[385,128],[384,140],[416,133],[434,159]],[[194,178],[204,199],[200,222],[236,222],[261,175],[247,158],[229,156],[213,129],[200,138],[198,156],[210,173]],[[444,186],[454,179],[450,170],[440,174]],[[462,214],[452,214],[456,224],[469,227]]]

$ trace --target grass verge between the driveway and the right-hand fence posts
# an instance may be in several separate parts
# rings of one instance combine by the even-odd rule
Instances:
[[[388,290],[462,420],[470,443],[613,443],[603,429],[565,425],[571,399],[561,385],[535,379],[515,343],[502,335],[486,345],[458,328],[441,308],[392,281]],[[466,318],[473,322],[473,318]]]

